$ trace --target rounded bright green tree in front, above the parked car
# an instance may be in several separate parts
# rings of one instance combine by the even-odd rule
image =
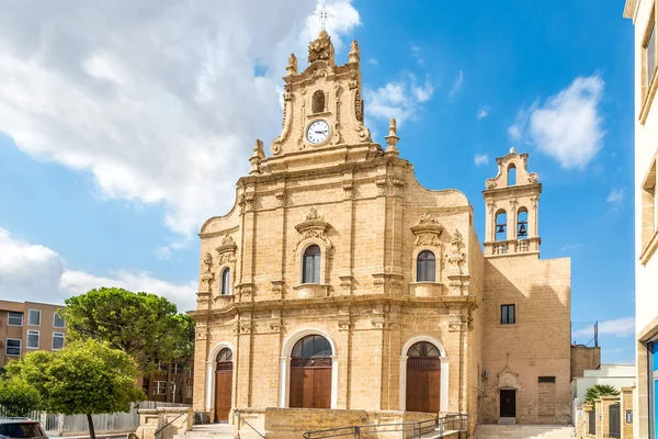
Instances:
[[[69,342],[56,352],[30,352],[7,371],[38,392],[44,409],[87,415],[91,439],[95,439],[91,415],[129,412],[133,403],[144,399],[131,356],[93,339]]]

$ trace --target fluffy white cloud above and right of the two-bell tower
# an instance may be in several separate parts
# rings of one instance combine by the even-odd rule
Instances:
[[[603,88],[597,75],[578,77],[543,105],[521,110],[508,133],[513,140],[534,144],[565,169],[583,169],[603,147]]]

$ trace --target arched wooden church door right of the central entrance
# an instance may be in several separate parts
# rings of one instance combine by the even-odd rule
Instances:
[[[441,398],[441,360],[439,349],[420,341],[407,352],[408,412],[439,413]]]

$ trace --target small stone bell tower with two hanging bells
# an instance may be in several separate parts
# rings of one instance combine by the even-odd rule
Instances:
[[[527,172],[527,154],[514,148],[496,159],[498,175],[483,191],[486,213],[485,256],[538,255],[538,210],[542,184]]]

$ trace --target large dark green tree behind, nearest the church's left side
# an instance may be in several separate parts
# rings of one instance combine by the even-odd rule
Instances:
[[[101,288],[66,300],[68,339],[106,341],[137,361],[144,374],[194,351],[194,320],[167,299],[120,288]]]

